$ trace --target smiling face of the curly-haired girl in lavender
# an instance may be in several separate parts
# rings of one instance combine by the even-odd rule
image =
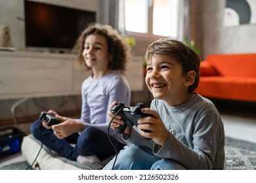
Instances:
[[[108,44],[103,35],[88,35],[85,39],[83,58],[93,71],[106,71],[108,69]]]

